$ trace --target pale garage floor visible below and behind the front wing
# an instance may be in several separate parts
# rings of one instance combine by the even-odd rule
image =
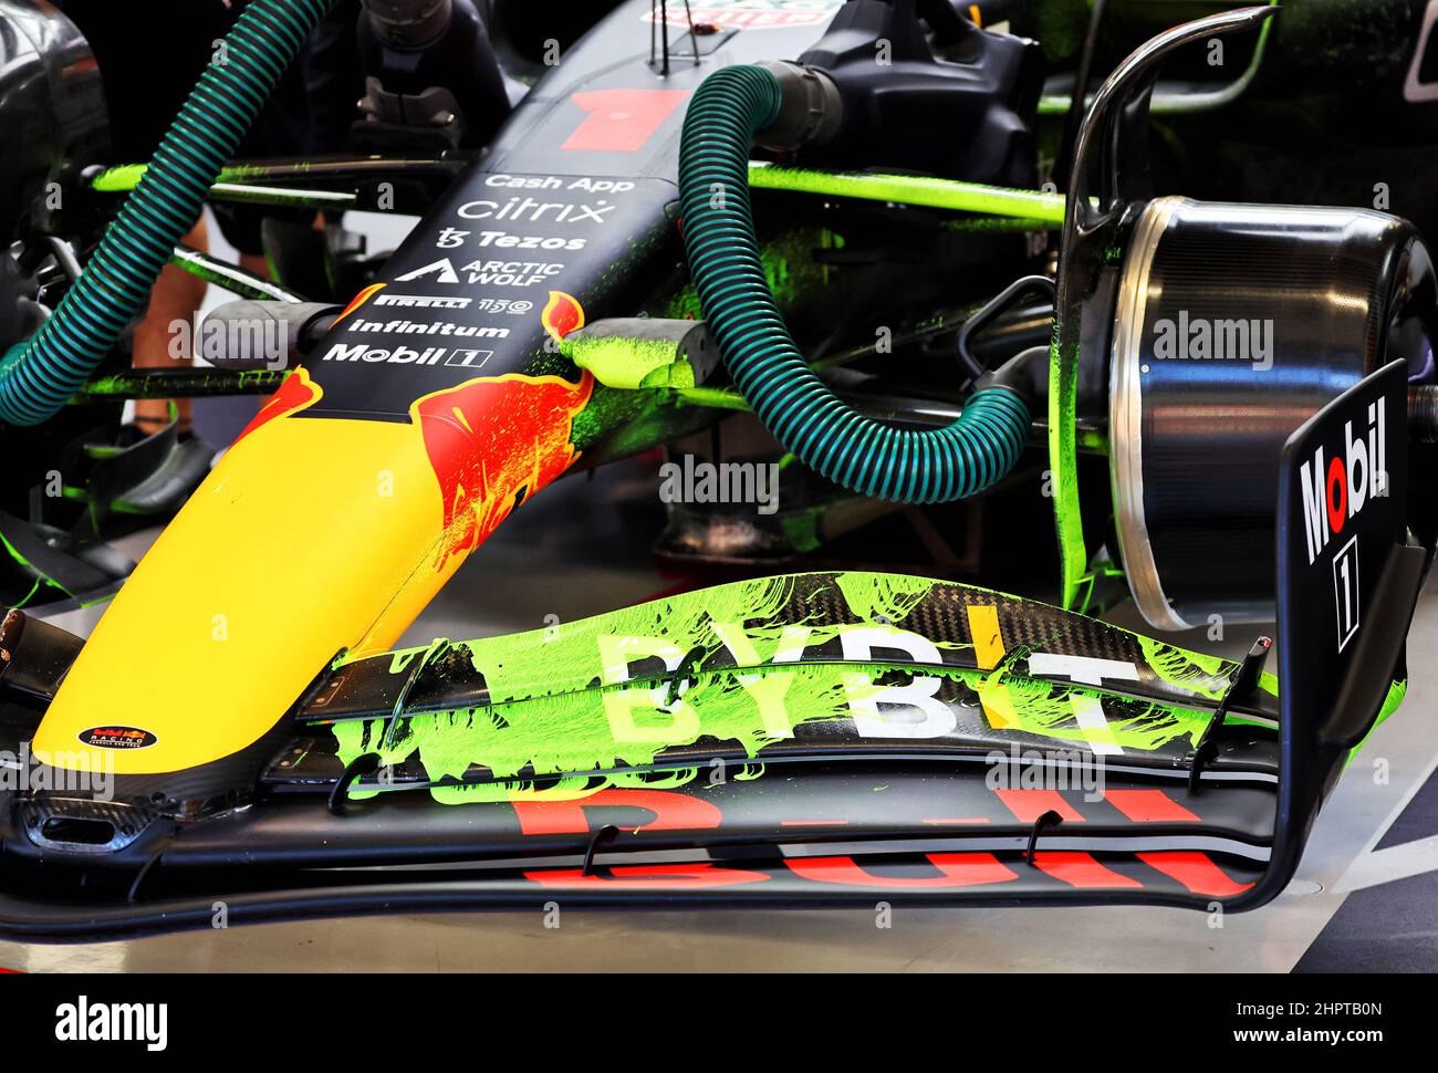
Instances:
[[[519,511],[411,629],[469,639],[636,603],[683,578],[649,555],[653,466],[561,482]],[[92,617],[92,616],[91,616]],[[63,623],[83,629],[73,617]],[[1194,643],[1201,647],[1201,641]],[[1268,908],[1215,921],[1176,909],[871,912],[569,910],[237,928],[88,946],[0,944],[30,971],[247,969],[1136,969],[1414,971],[1438,968],[1438,588],[1409,640],[1401,712],[1343,775],[1299,879]]]

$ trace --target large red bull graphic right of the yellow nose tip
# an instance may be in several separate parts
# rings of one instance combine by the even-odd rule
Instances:
[[[578,383],[512,373],[414,403],[410,414],[444,501],[436,570],[483,544],[515,506],[574,465],[574,419],[592,390],[588,373]]]

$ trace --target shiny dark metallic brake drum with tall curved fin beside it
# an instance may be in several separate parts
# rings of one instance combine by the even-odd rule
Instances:
[[[1135,603],[1160,630],[1273,620],[1277,473],[1304,421],[1401,360],[1406,408],[1422,424],[1438,283],[1412,224],[1368,209],[1201,203],[1152,190],[1146,98],[1160,63],[1277,14],[1245,7],[1159,35],[1119,65],[1084,119],[1048,378],[1064,606],[1074,606],[1090,565],[1077,476],[1081,394],[1107,396],[1117,551]],[[1389,410],[1386,420],[1408,420],[1405,407]],[[1380,437],[1368,433],[1375,423],[1376,413],[1353,436]],[[1408,496],[1408,521],[1431,547],[1422,499]],[[1362,502],[1349,502],[1350,516]]]

